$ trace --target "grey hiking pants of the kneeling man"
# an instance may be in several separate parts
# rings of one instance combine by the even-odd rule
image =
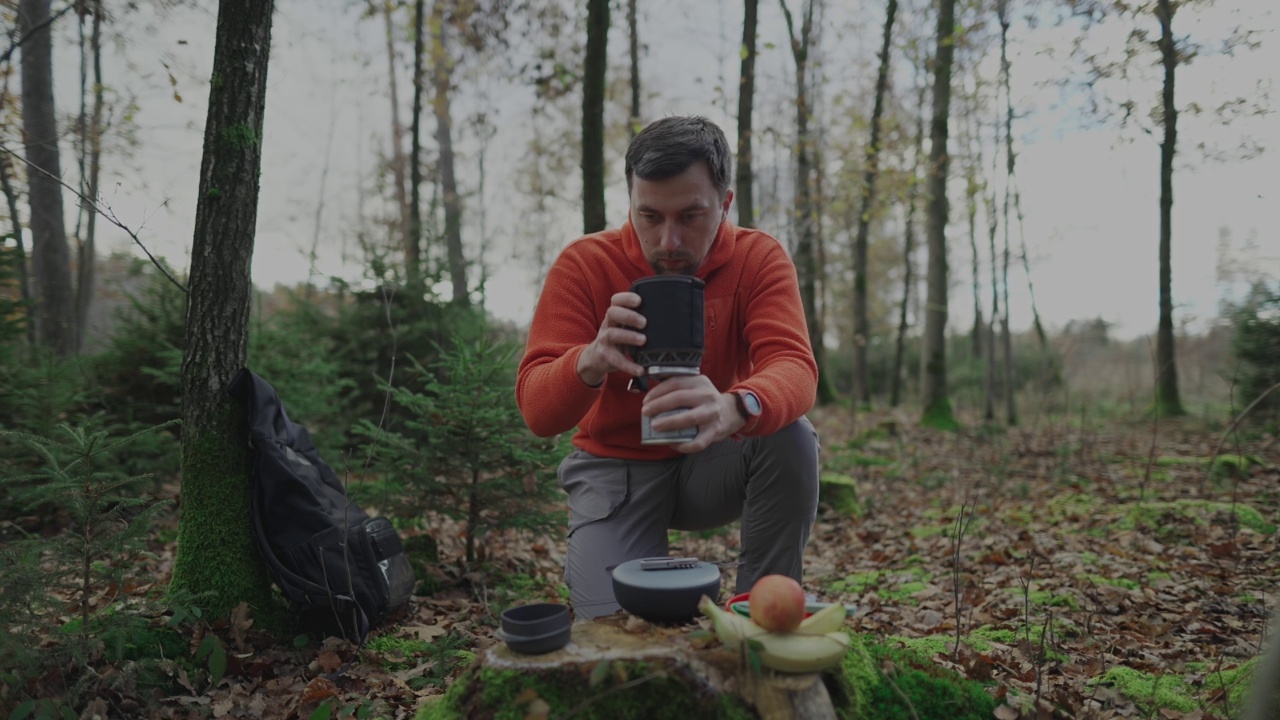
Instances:
[[[667,530],[742,519],[737,592],[769,574],[801,579],[818,511],[818,433],[806,418],[765,437],[717,442],[669,460],[618,460],[576,450],[561,462],[568,493],[564,580],[579,620],[611,615],[616,565],[667,555]],[[724,557],[704,557],[724,561]]]

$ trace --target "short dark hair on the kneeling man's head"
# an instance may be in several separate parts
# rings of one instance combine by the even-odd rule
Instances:
[[[632,177],[646,181],[673,178],[703,160],[712,173],[712,183],[723,196],[733,158],[724,131],[701,117],[673,117],[645,127],[627,146],[627,190]]]

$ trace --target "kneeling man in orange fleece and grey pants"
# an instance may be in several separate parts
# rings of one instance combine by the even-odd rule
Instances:
[[[741,518],[737,591],[768,574],[801,579],[818,505],[818,438],[804,418],[818,368],[795,265],[773,237],[728,222],[728,141],[705,118],[666,118],[626,155],[630,219],[563,250],[547,274],[516,400],[539,436],[575,425],[559,468],[568,493],[564,577],[579,619],[618,609],[609,570],[667,555],[668,529]],[[652,274],[705,282],[700,374],[628,392],[644,368],[645,318],[628,288]],[[687,409],[671,416],[657,415]],[[698,428],[680,445],[653,430]],[[709,559],[722,560],[722,559]]]

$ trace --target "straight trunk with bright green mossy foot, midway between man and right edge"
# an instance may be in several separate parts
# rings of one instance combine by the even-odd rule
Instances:
[[[933,119],[929,124],[929,242],[928,301],[924,307],[924,347],[920,391],[923,421],[955,427],[947,393],[947,120],[951,111],[951,65],[955,56],[955,0],[938,3],[937,50],[933,63]]]

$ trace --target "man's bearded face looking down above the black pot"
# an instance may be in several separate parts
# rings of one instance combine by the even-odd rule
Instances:
[[[634,177],[631,224],[653,272],[696,274],[732,202],[733,191],[721,197],[707,163],[660,181]]]

